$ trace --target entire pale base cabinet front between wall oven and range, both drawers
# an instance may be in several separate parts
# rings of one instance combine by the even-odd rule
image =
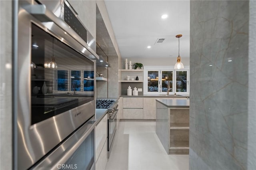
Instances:
[[[95,128],[95,158],[96,170],[105,169],[107,155],[107,130],[108,130],[108,115],[105,115]]]

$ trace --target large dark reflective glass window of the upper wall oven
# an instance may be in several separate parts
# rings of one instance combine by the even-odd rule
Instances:
[[[31,125],[94,100],[94,62],[32,23]]]

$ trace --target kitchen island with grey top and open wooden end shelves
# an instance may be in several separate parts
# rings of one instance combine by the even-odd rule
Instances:
[[[156,134],[167,154],[188,154],[189,99],[156,99]]]

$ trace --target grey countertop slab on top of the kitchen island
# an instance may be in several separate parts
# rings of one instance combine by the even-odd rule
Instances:
[[[189,108],[189,99],[156,99],[168,108]]]

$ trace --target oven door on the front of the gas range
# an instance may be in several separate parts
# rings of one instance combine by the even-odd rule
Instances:
[[[108,120],[108,151],[110,150],[116,132],[117,111]]]

